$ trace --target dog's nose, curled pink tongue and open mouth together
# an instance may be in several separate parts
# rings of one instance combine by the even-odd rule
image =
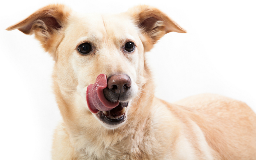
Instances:
[[[107,79],[100,74],[94,84],[87,87],[87,106],[92,113],[109,125],[125,120],[128,99],[131,96],[131,79],[125,74],[113,75]]]

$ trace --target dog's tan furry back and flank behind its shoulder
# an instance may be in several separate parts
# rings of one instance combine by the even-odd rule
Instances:
[[[175,104],[201,128],[221,160],[256,159],[256,114],[244,102],[201,94]]]

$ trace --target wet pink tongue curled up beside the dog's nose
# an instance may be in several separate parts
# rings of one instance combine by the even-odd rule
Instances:
[[[119,104],[119,101],[109,102],[105,98],[103,89],[106,88],[107,85],[107,76],[105,74],[100,74],[94,84],[88,85],[86,101],[88,108],[92,113],[97,113],[98,111],[110,111]]]

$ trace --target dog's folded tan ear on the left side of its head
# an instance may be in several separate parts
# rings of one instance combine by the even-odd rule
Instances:
[[[35,34],[45,51],[57,60],[55,51],[62,37],[61,29],[66,25],[70,12],[69,8],[61,4],[48,5],[6,30],[19,29],[28,35]]]

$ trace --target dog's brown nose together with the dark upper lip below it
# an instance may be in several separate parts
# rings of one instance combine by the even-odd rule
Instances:
[[[125,101],[129,96],[131,79],[126,74],[113,75],[108,78],[108,87],[103,90],[109,101]]]

